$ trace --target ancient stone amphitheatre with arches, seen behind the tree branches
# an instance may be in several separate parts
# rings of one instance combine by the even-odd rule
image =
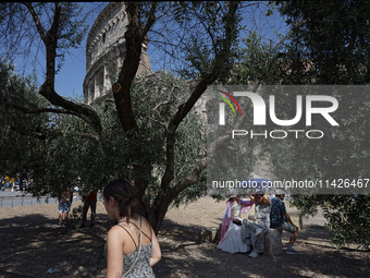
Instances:
[[[110,94],[126,55],[124,33],[128,23],[123,2],[111,2],[95,20],[86,40],[84,97],[91,104]],[[147,44],[143,44],[137,75],[151,74]]]

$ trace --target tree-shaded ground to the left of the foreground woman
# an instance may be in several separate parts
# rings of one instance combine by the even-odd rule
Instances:
[[[106,267],[103,251],[109,222],[103,218],[107,216],[97,215],[94,228],[73,232],[58,228],[58,220],[40,214],[1,220],[0,275],[98,277]]]

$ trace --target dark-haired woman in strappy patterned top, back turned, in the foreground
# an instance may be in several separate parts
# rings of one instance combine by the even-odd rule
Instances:
[[[152,266],[161,259],[161,250],[151,226],[139,215],[135,188],[115,180],[103,190],[104,206],[115,219],[107,238],[107,278],[156,277]]]

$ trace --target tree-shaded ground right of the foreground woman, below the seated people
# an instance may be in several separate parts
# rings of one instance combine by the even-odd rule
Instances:
[[[162,261],[158,277],[368,277],[369,253],[349,247],[336,251],[323,227],[306,227],[296,243],[299,255],[230,254],[213,243],[198,244],[201,226],[181,226],[165,220],[159,233]],[[288,243],[284,232],[283,245]]]

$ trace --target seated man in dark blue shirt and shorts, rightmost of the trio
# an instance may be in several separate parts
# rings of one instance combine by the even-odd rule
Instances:
[[[293,249],[293,244],[298,237],[298,227],[293,223],[289,215],[286,213],[284,204],[285,192],[276,190],[275,197],[271,200],[270,227],[291,232],[289,244],[285,251],[286,254],[299,254]]]

